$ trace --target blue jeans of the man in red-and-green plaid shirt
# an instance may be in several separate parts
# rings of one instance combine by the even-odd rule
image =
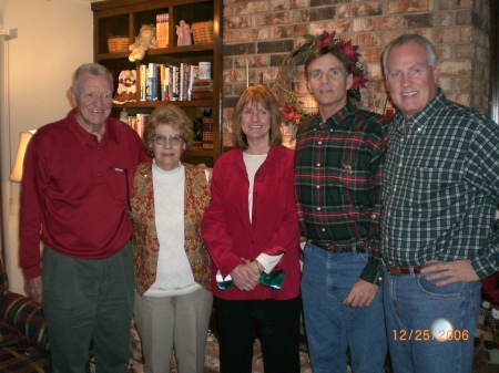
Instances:
[[[310,242],[305,246],[302,299],[314,373],[345,373],[347,349],[355,373],[385,372],[381,289],[369,307],[343,304],[367,259],[367,252],[332,253]]]

